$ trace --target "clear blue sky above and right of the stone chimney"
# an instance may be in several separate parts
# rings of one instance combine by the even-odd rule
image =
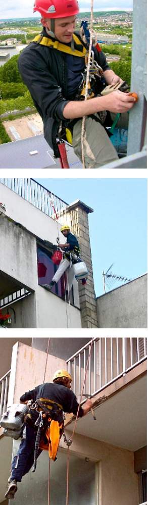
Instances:
[[[96,296],[104,292],[102,272],[112,263],[114,274],[129,279],[147,271],[146,179],[36,181],[68,204],[80,199],[93,209],[89,214],[89,232]],[[115,282],[112,289],[119,285]]]

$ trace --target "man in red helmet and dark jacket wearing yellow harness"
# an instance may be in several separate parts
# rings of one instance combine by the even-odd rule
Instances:
[[[74,152],[82,161],[81,118],[85,116],[85,168],[98,168],[117,160],[118,155],[106,127],[112,126],[113,114],[129,112],[136,99],[118,90],[101,96],[102,79],[98,83],[94,75],[93,97],[84,102],[81,99],[81,83],[87,65],[88,46],[86,51],[81,33],[75,31],[76,15],[79,13],[77,0],[35,0],[33,12],[36,11],[41,15],[43,30],[22,51],[18,66],[43,120],[45,140],[59,157],[57,138],[66,135],[65,138],[69,139],[70,135]],[[92,46],[92,49],[106,84],[122,84],[122,79],[110,69],[101,48],[97,51]],[[123,124],[126,124],[127,127],[127,117],[123,114],[117,125],[124,127]]]

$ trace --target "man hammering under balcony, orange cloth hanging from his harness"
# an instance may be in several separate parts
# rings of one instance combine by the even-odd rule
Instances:
[[[78,411],[79,404],[76,395],[71,390],[71,382],[72,378],[67,370],[57,370],[53,377],[53,383],[40,384],[20,397],[21,403],[32,400],[33,405],[26,416],[21,444],[12,462],[8,490],[5,494],[6,498],[14,498],[17,491],[17,482],[21,482],[22,477],[29,472],[33,463],[36,463],[42,449],[48,449],[48,445],[50,445],[49,455],[55,461],[59,441],[64,431],[63,412],[76,415]],[[92,401],[87,399],[85,404],[79,408],[78,417],[86,415],[91,408]],[[48,411],[47,416],[46,411]],[[40,417],[42,415],[42,427],[36,447],[39,415]],[[48,418],[50,418],[50,421]]]

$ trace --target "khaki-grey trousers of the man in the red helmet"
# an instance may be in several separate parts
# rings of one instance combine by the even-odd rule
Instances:
[[[111,114],[114,121],[116,114]],[[122,114],[117,127],[128,127],[128,114]],[[82,162],[81,152],[81,130],[82,119],[78,120],[73,128],[73,149],[74,153]],[[85,134],[84,134],[84,159],[85,168],[99,168],[106,163],[111,163],[118,160],[117,151],[112,144],[104,126],[95,119],[89,116],[85,118]]]

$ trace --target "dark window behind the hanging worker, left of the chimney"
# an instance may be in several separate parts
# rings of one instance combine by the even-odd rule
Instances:
[[[43,284],[49,284],[56,273],[58,266],[52,261],[53,251],[47,251],[42,247],[37,246],[37,270],[38,270],[38,284],[43,286]],[[65,284],[67,282],[65,273]],[[64,288],[64,275],[62,275],[59,282],[57,282],[53,288],[52,293],[57,294],[65,300],[65,288]],[[73,288],[69,293],[70,303],[74,305]],[[68,301],[68,294],[67,294]]]

